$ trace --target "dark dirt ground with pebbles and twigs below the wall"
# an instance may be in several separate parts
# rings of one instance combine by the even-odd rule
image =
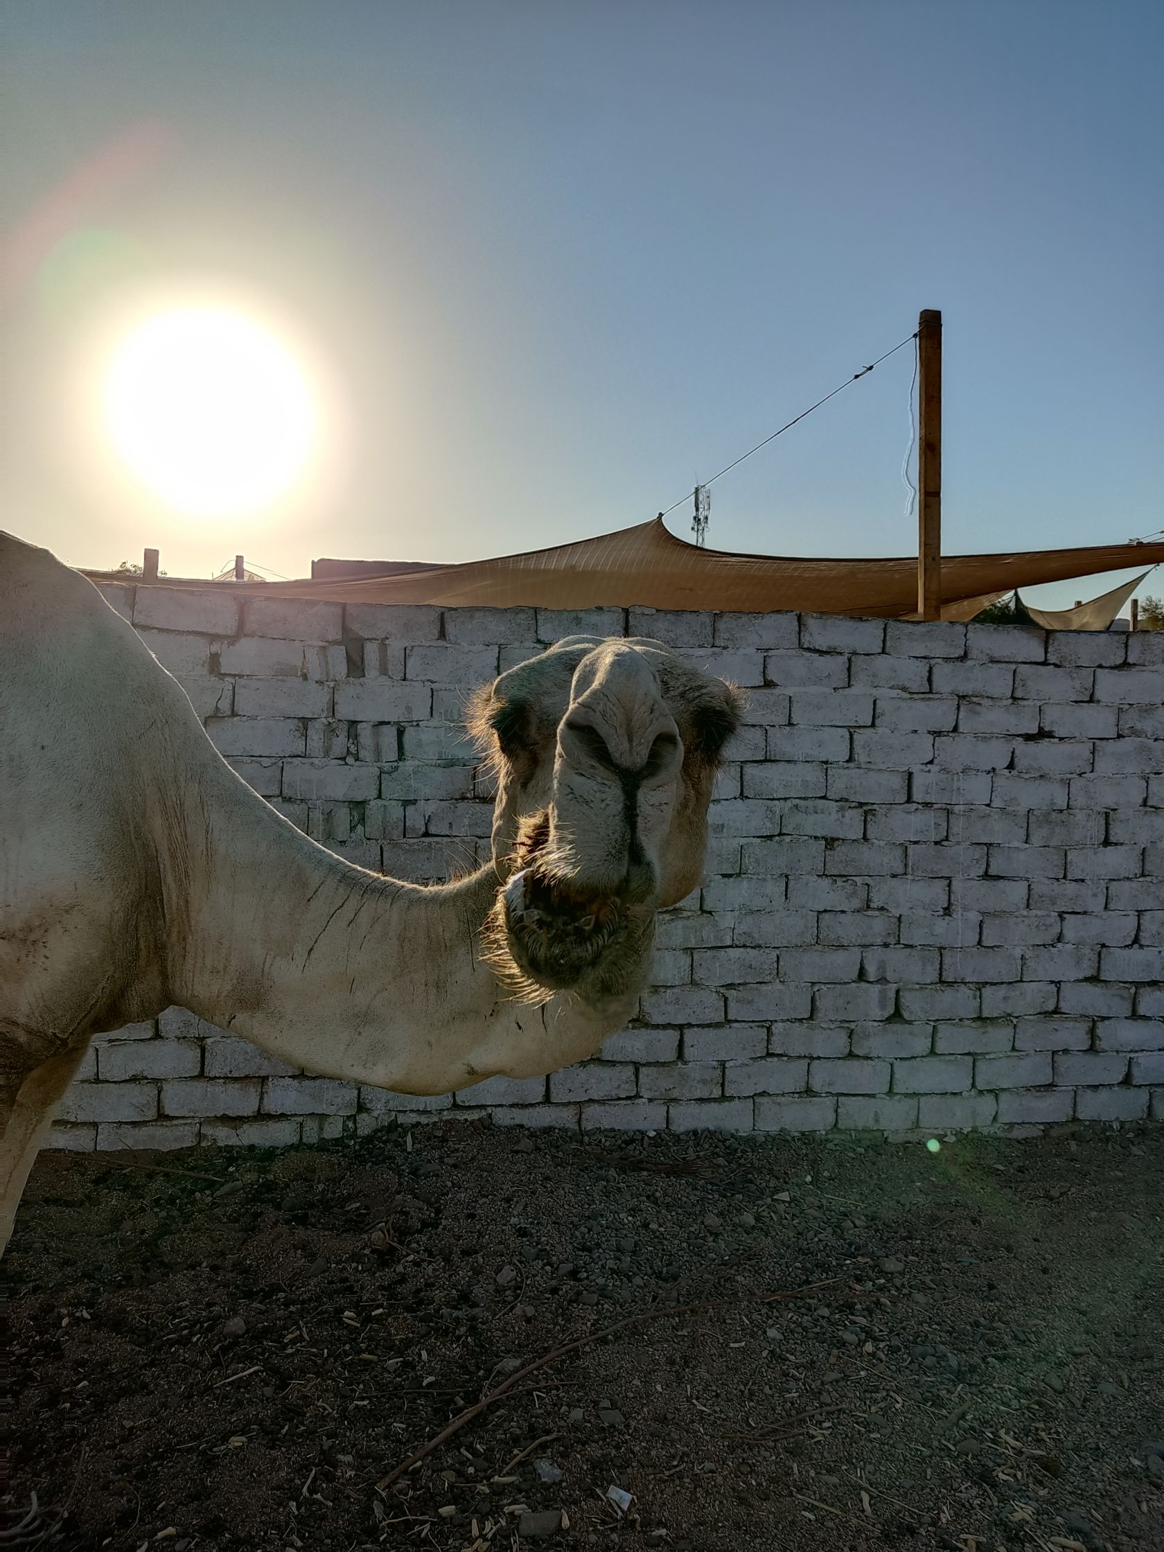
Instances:
[[[1164,1547],[1164,1128],[47,1155],[6,1271],[22,1552]]]

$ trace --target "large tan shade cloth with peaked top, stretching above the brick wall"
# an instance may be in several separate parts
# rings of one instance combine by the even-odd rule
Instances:
[[[942,604],[1161,560],[1164,542],[947,556],[942,560]],[[329,562],[329,568],[335,565]],[[360,563],[362,570],[365,565],[366,562]],[[391,565],[385,562],[385,570]],[[120,580],[126,577],[121,576]],[[206,582],[177,582],[172,577],[158,579],[158,584],[208,587]],[[660,518],[653,518],[598,539],[464,565],[362,574],[351,580],[314,577],[304,582],[214,585],[233,587],[244,598],[317,598],[366,604],[495,608],[515,604],[542,608],[641,605],[903,618],[917,610],[917,559],[821,560],[700,549],[677,539]]]

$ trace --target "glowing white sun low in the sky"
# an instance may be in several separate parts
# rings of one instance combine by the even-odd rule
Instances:
[[[219,306],[140,323],[113,351],[104,417],[130,472],[189,517],[270,506],[301,478],[318,439],[318,408],[293,352]]]

